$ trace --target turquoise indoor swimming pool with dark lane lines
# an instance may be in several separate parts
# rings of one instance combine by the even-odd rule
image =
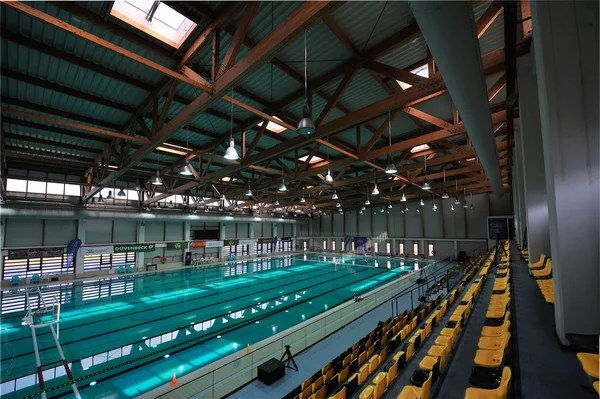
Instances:
[[[42,290],[61,302],[60,344],[83,398],[135,397],[372,290],[429,261],[322,254],[75,282]],[[2,397],[40,391],[23,290],[2,293]],[[10,306],[8,306],[10,305]],[[19,308],[19,306],[21,306]],[[59,359],[37,331],[42,364]],[[72,395],[45,367],[48,397]]]

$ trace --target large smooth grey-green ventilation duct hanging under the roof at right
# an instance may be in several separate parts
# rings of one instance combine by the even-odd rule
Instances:
[[[466,1],[410,1],[409,5],[494,194],[502,196],[504,189],[473,4]]]

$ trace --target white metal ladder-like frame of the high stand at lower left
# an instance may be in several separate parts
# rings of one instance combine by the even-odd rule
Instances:
[[[56,296],[53,296],[52,304],[49,306],[46,306],[44,296],[41,294],[41,292],[36,291],[36,293],[38,294],[38,309],[34,310],[31,308],[31,302],[30,302],[30,298],[29,298],[29,290],[25,291],[29,310],[27,311],[27,314],[23,318],[22,324],[28,325],[31,328],[31,337],[33,339],[33,349],[35,352],[35,363],[36,363],[36,367],[37,367],[37,375],[38,375],[40,389],[42,390],[42,393],[41,393],[42,399],[47,398],[46,388],[45,388],[45,383],[44,383],[43,368],[51,366],[56,363],[62,363],[62,365],[65,368],[65,372],[67,373],[67,377],[69,378],[69,382],[71,383],[71,388],[73,389],[73,394],[75,395],[75,398],[81,399],[81,395],[79,394],[77,385],[75,384],[75,381],[73,381],[73,374],[71,373],[71,369],[69,368],[69,364],[67,363],[65,354],[62,350],[62,347],[60,346],[60,343],[58,342],[58,334],[56,332],[56,329],[54,328],[54,325],[55,324],[58,325],[58,322],[60,320],[60,302],[56,299]],[[40,304],[41,304],[41,307],[39,306]],[[40,309],[41,309],[41,311],[40,311]],[[36,324],[34,317],[36,315],[42,316],[46,312],[52,312],[52,319],[45,323]],[[41,320],[41,318],[40,318],[40,320]],[[52,338],[54,339],[56,349],[58,349],[58,353],[60,355],[60,360],[46,363],[46,364],[41,363],[40,352],[38,349],[37,335],[35,332],[36,329],[44,328],[44,327],[48,327],[50,329],[50,331],[52,332]]]

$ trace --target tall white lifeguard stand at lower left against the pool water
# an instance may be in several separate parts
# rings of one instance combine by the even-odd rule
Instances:
[[[73,389],[73,394],[75,395],[75,398],[81,399],[81,395],[79,394],[77,385],[75,384],[75,381],[73,381],[73,374],[71,373],[71,369],[69,368],[69,364],[67,363],[65,354],[63,353],[62,347],[60,346],[60,342],[58,341],[60,334],[60,301],[56,299],[56,296],[52,296],[51,303],[46,303],[46,300],[44,299],[41,290],[41,287],[35,287],[34,289],[25,288],[25,297],[27,299],[27,313],[25,314],[25,317],[23,317],[21,324],[24,326],[29,326],[31,328],[31,337],[33,339],[33,349],[35,352],[35,362],[37,367],[38,381],[40,389],[42,390],[42,399],[46,399],[46,388],[44,383],[43,368],[54,365],[56,363],[62,363],[63,367],[65,368],[67,377],[69,378],[69,382],[71,383],[71,388]],[[55,325],[56,329],[54,328]],[[52,332],[52,338],[54,339],[56,349],[58,349],[60,360],[57,360],[52,363],[41,364],[36,335],[36,330],[41,328],[49,328]]]

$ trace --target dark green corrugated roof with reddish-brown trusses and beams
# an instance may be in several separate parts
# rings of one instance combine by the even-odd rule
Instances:
[[[437,73],[406,2],[165,3],[197,24],[177,50],[111,16],[111,2],[2,3],[4,180],[17,170],[81,176],[82,204],[104,188],[139,180],[141,207],[175,194],[218,198],[223,190],[247,200],[250,185],[263,203],[277,198],[296,209],[327,210],[335,206],[328,189],[354,206],[374,176],[386,191],[380,202],[398,200],[399,190],[418,197],[424,178],[438,195],[452,195],[455,179],[461,193],[491,191],[445,90],[391,107],[388,148],[383,104],[404,92],[398,78],[422,65],[429,75],[420,79]],[[503,9],[498,1],[473,3],[508,186]],[[305,31],[317,122],[308,138],[295,132],[305,102]],[[518,39],[516,52],[529,51],[527,38]],[[274,117],[288,129],[265,129]],[[223,157],[231,132],[242,154],[235,162]],[[413,144],[430,149],[412,154]],[[165,145],[189,148],[194,176],[179,175],[185,154]],[[399,170],[394,176],[383,173],[388,154]],[[303,163],[304,155],[323,161]],[[323,182],[327,169],[331,184]],[[149,183],[157,170],[164,186]],[[445,185],[444,170],[453,176]],[[277,192],[282,173],[287,193]],[[222,177],[236,180],[223,184]],[[306,204],[298,204],[302,195]]]

